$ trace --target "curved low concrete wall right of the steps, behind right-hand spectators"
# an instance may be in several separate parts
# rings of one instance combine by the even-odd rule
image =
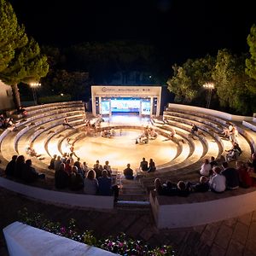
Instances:
[[[239,190],[243,190],[245,194],[227,197],[224,194],[229,192],[224,192],[224,194],[218,195],[218,199],[214,200],[214,193],[208,192],[212,193],[212,200],[192,201],[190,203],[188,201],[193,200],[193,196],[196,195],[189,195],[189,200],[179,197],[179,203],[177,203],[177,197],[154,196],[151,193],[149,201],[155,223],[159,229],[184,228],[236,218],[255,211],[256,190],[254,188],[246,191],[241,188]],[[237,190],[235,193],[238,194],[239,191]]]

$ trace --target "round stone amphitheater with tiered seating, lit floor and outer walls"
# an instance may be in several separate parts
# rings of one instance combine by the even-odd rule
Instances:
[[[154,179],[164,183],[171,180],[197,182],[203,160],[215,157],[218,163],[224,161],[225,150],[231,148],[229,139],[220,137],[229,125],[239,131],[238,143],[242,148],[241,160],[248,161],[256,145],[256,119],[231,115],[208,108],[197,108],[169,103],[158,117],[141,117],[134,114],[103,117],[96,133],[88,135],[84,129],[84,118],[96,120],[92,113],[84,110],[84,102],[55,102],[26,108],[26,119],[17,116],[15,131],[6,129],[0,136],[1,169],[15,154],[26,154],[26,148],[34,148],[38,157],[32,157],[32,164],[46,179],[27,185],[0,177],[3,189],[15,192],[46,204],[73,209],[74,207],[95,212],[112,212],[127,208],[129,211],[147,210],[154,216],[157,229],[189,228],[212,224],[256,210],[256,189],[254,187],[225,191],[223,194],[192,193],[188,197],[156,195]],[[63,125],[67,118],[69,125]],[[199,132],[189,136],[195,124]],[[152,128],[158,137],[148,143],[136,143],[145,128]],[[113,137],[102,137],[101,132],[113,129]],[[176,135],[171,140],[170,131]],[[49,161],[54,154],[67,151],[67,138],[73,144],[73,152],[81,161],[92,167],[96,160],[104,164],[109,161],[113,177],[119,186],[119,201],[113,196],[84,195],[68,189],[55,189],[54,170],[49,170]],[[141,172],[140,161],[154,159],[156,171]],[[123,170],[131,164],[136,178],[127,180]],[[235,166],[235,161],[230,162]],[[2,172],[3,173],[3,172]]]

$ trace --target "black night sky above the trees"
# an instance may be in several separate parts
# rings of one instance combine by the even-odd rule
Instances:
[[[154,44],[170,62],[218,49],[248,51],[256,23],[253,0],[11,0],[20,23],[39,44],[136,40]]]

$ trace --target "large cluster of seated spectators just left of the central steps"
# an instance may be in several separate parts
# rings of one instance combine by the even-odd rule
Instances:
[[[49,169],[55,170],[55,188],[83,191],[86,195],[113,195],[118,201],[119,188],[114,183],[112,169],[108,160],[102,166],[99,160],[93,168],[78,157],[73,159],[73,153],[57,156],[49,162]]]

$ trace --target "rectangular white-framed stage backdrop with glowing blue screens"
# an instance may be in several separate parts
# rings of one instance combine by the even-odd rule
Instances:
[[[161,86],[91,86],[92,113],[159,116]]]

